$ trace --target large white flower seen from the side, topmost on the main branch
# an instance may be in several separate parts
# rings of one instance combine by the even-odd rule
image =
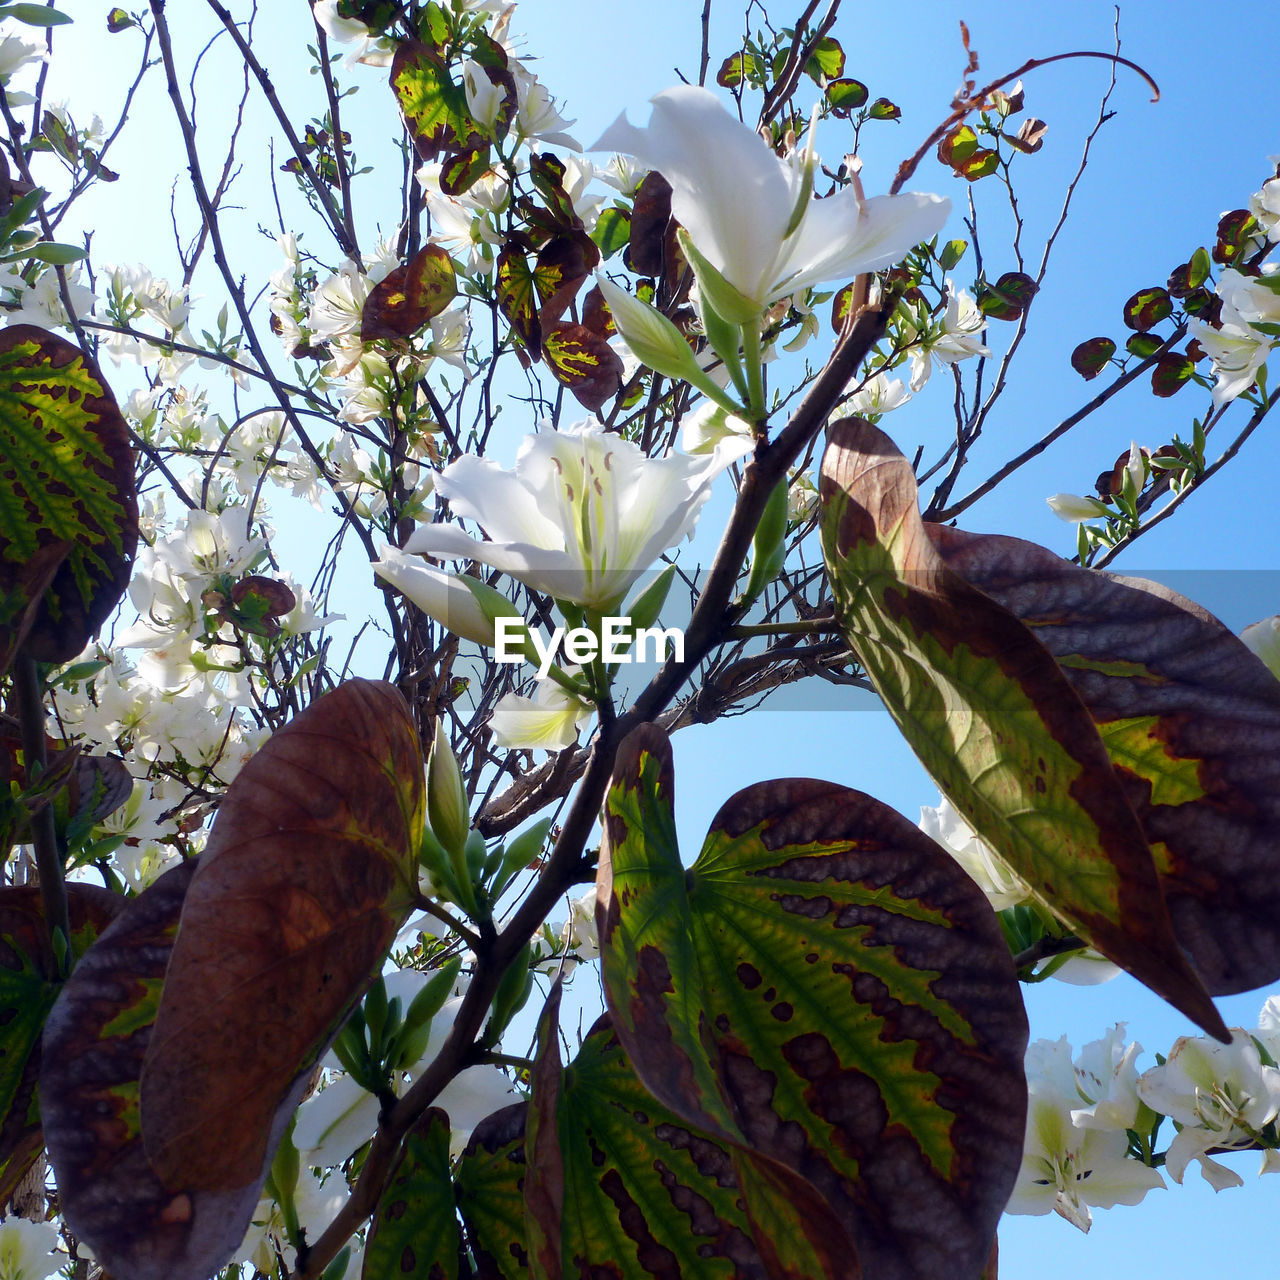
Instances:
[[[645,128],[620,115],[591,150],[621,151],[657,169],[698,252],[756,315],[820,280],[891,266],[950,212],[941,196],[864,200],[856,183],[812,200],[813,156],[778,159],[714,93],[681,84],[652,102]]]

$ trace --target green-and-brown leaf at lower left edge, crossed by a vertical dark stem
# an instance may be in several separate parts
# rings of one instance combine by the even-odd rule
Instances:
[[[68,884],[67,905],[72,955],[78,956],[119,915],[124,899],[92,884]],[[36,1080],[56,974],[40,890],[0,890],[0,1204],[45,1146]]]

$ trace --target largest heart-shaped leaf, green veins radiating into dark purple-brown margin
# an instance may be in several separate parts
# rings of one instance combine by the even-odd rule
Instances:
[[[653,726],[622,746],[604,827],[616,1033],[650,1092],[735,1152],[748,1213],[773,1175],[827,1251],[818,1275],[977,1276],[1027,1107],[1027,1019],[983,893],[886,805],[801,778],[730,799],[686,870]],[[771,1274],[791,1274],[772,1243]]]

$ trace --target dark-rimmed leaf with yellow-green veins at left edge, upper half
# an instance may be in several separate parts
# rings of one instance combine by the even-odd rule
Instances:
[[[74,658],[124,594],[137,540],[129,430],[97,366],[44,329],[4,329],[0,652],[20,632],[40,662]]]

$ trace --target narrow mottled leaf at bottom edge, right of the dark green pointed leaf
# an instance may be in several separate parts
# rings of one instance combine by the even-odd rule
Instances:
[[[513,1102],[471,1132],[453,1172],[476,1280],[522,1280],[525,1243],[525,1114]]]

